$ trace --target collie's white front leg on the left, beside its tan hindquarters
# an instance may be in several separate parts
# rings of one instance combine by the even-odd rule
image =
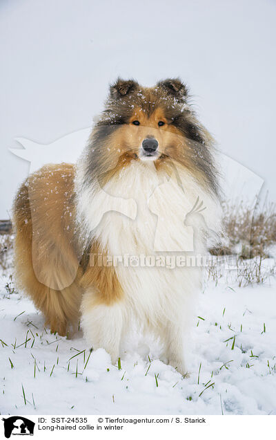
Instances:
[[[123,329],[123,309],[120,302],[103,304],[89,288],[81,302],[81,327],[92,349],[103,348],[113,364],[119,358],[119,345]]]

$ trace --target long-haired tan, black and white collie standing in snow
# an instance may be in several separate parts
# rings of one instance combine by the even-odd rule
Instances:
[[[203,255],[218,228],[213,156],[179,79],[110,86],[79,163],[44,166],[14,201],[17,286],[52,332],[64,336],[80,321],[89,347],[116,363],[136,322],[186,374],[202,268],[184,262]],[[172,256],[179,264],[167,264]]]

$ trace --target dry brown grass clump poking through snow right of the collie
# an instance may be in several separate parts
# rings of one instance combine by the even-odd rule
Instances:
[[[217,260],[208,267],[208,279],[217,283],[223,277],[240,287],[268,282],[276,274],[275,259],[269,258],[276,245],[275,204],[224,203],[223,208],[224,235],[210,249]]]

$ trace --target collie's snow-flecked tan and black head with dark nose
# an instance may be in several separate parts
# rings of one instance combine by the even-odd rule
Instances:
[[[174,162],[217,192],[212,143],[190,108],[187,86],[179,78],[153,87],[118,78],[92,132],[87,172],[99,175],[132,161],[153,161],[158,170]]]

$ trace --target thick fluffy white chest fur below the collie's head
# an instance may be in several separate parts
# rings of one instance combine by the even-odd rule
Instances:
[[[183,187],[176,176],[168,180],[164,174],[157,173],[154,163],[133,161],[103,189],[98,186],[94,192],[88,189],[80,192],[79,212],[85,220],[86,235],[96,237],[110,257],[204,252],[201,228],[186,226],[184,220],[199,198],[206,208],[205,223],[214,223],[214,202],[188,173],[179,172],[179,176]],[[130,205],[126,209],[128,201]],[[105,214],[92,229],[102,207]],[[129,263],[128,259],[127,266],[118,264],[119,282],[137,315],[146,313],[151,320],[164,317],[171,320],[175,310],[188,308],[190,297],[200,286],[200,268]]]

